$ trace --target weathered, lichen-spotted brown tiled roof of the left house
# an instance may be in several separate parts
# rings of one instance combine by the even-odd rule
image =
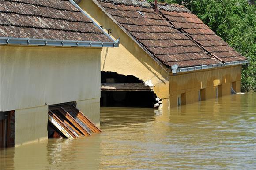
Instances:
[[[70,1],[0,1],[0,37],[113,42]]]

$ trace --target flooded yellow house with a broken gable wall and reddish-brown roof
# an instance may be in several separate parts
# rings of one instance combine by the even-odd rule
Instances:
[[[240,91],[247,58],[186,7],[143,0],[76,3],[121,40],[118,48],[101,52],[104,105],[140,105],[157,97],[168,108]]]

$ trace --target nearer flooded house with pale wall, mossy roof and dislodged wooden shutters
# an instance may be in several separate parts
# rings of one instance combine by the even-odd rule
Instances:
[[[1,0],[0,11],[1,148],[46,139],[49,119],[99,127],[100,55],[119,43],[72,0]]]

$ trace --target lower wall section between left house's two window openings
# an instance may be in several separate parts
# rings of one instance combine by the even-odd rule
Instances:
[[[48,138],[48,106],[15,110],[15,147]]]

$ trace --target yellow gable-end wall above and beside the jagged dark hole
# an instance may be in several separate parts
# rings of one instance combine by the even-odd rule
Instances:
[[[164,71],[141,47],[119,28],[94,2],[80,1],[78,4],[95,22],[111,28],[114,39],[120,37],[118,48],[103,48],[101,70],[123,75],[134,75],[146,82],[151,80],[153,90],[159,98],[169,98],[169,73]],[[166,102],[169,104],[169,101]]]

